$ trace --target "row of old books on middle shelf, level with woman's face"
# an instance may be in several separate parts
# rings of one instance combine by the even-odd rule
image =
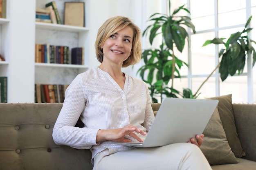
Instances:
[[[35,45],[35,62],[55,64],[79,64],[84,65],[84,48],[68,46],[55,46],[47,44]]]

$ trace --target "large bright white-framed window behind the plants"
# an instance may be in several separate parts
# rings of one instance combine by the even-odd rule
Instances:
[[[218,65],[218,52],[222,48],[221,45],[214,44],[202,47],[206,40],[215,37],[229,38],[231,33],[242,31],[251,15],[251,27],[254,29],[249,34],[249,38],[256,40],[256,1],[180,0],[177,3],[172,0],[171,3],[173,9],[186,4],[191,11],[191,19],[197,31],[190,36],[191,46],[187,48],[188,51],[184,49],[182,53],[183,57],[187,54],[186,60],[189,61],[190,66],[189,69],[182,70],[184,78],[182,82],[179,80],[182,85],[180,90],[189,87],[195,93]],[[199,93],[201,97],[232,94],[233,103],[256,103],[256,79],[253,79],[253,75],[254,77],[256,75],[256,66],[252,68],[252,60],[246,60],[242,75],[229,76],[224,82],[221,81],[217,69]]]

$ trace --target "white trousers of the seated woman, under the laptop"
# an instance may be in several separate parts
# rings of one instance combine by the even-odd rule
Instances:
[[[188,143],[123,152],[106,149],[94,157],[93,170],[211,170],[198,146]]]

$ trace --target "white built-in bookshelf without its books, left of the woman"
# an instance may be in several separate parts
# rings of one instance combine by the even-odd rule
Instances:
[[[69,2],[76,0],[69,0]],[[90,0],[85,2],[85,26],[88,26]],[[36,8],[44,9],[51,0],[24,3],[7,0],[7,18],[0,18],[0,76],[8,77],[7,102],[34,102],[35,84],[70,84],[90,66],[88,27],[35,22]],[[63,21],[64,0],[55,0]],[[24,9],[26,12],[24,13]],[[25,19],[24,19],[25,18]],[[35,44],[85,47],[84,65],[35,63]],[[88,48],[87,48],[88,47]]]

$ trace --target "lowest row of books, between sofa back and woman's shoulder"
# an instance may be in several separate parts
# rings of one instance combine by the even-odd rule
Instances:
[[[63,103],[68,84],[35,84],[35,103]]]

